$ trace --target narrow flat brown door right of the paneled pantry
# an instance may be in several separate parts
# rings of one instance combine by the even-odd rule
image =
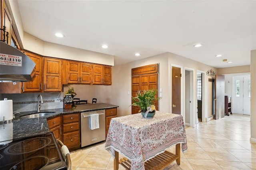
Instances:
[[[181,69],[172,66],[172,113],[181,114]]]

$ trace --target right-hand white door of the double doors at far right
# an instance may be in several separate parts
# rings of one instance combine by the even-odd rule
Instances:
[[[244,101],[243,101],[243,114],[251,114],[251,80],[250,77],[244,77]]]

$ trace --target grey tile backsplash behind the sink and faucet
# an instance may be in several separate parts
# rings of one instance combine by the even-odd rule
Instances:
[[[13,102],[13,112],[36,111],[37,96],[41,94],[44,103],[41,104],[41,110],[63,108],[63,92],[60,93],[28,93],[28,94],[2,94],[1,100],[7,98]],[[54,99],[60,98],[59,103]]]

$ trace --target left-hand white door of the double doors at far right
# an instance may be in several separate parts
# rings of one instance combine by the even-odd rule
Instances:
[[[232,95],[232,113],[243,113],[243,77],[233,77],[232,78],[233,84],[233,95]]]

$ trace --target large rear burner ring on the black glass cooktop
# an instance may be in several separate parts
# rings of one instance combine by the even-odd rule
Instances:
[[[46,147],[51,142],[50,138],[47,137],[37,137],[32,139],[27,139],[20,141],[14,145],[11,145],[6,152],[8,154],[24,154],[35,150],[42,149]]]

